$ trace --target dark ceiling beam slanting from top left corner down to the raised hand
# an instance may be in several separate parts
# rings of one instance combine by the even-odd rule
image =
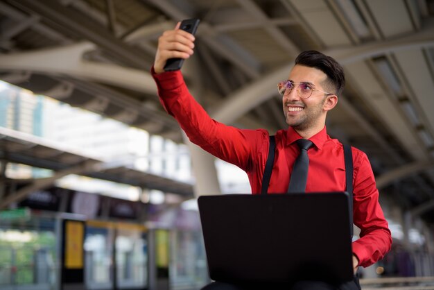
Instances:
[[[8,0],[8,3],[38,15],[44,21],[67,28],[68,31],[79,37],[85,37],[85,39],[112,53],[116,58],[131,67],[148,69],[144,65],[146,60],[149,60],[148,55],[139,51],[139,49],[128,46],[128,44],[114,37],[106,27],[92,21],[92,19],[83,17],[83,14],[79,12],[62,6],[57,0]]]

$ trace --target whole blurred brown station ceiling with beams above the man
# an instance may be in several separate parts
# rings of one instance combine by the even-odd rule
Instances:
[[[149,70],[162,31],[193,17],[183,73],[212,117],[285,128],[277,82],[301,51],[333,56],[347,86],[329,134],[367,153],[383,193],[434,221],[433,0],[3,0],[0,78],[182,142]]]

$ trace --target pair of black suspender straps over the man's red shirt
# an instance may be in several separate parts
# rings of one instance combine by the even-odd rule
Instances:
[[[270,184],[270,178],[272,173],[272,166],[275,163],[275,136],[270,136],[270,148],[268,149],[268,158],[266,162],[266,168],[263,172],[261,194],[267,194],[268,185]],[[345,187],[348,193],[348,205],[349,205],[349,227],[351,231],[351,237],[353,235],[353,155],[351,153],[351,146],[344,144],[344,157],[345,157]]]

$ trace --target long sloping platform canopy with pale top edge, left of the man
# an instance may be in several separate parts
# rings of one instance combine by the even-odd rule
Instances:
[[[7,188],[10,188],[5,178],[6,187],[0,189],[0,208],[25,198],[32,191],[51,186],[55,180],[68,174],[157,189],[179,194],[185,198],[193,196],[193,186],[188,183],[139,171],[121,162],[100,160],[73,148],[65,149],[64,145],[60,148],[55,142],[8,128],[0,127],[0,148],[2,168],[6,168],[6,164],[11,162],[53,171],[53,176],[50,178],[28,180],[29,185],[13,194],[5,192]]]

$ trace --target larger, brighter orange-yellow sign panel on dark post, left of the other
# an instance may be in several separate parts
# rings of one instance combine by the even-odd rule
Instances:
[[[65,268],[83,268],[83,235],[85,226],[80,221],[65,223]]]

